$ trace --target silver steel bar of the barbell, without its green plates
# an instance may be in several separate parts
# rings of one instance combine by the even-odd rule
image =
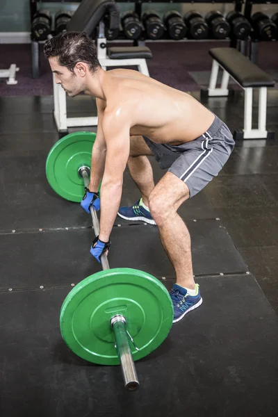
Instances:
[[[88,188],[90,183],[88,170],[84,167],[84,169],[81,169],[80,173],[83,177],[85,187]],[[92,226],[95,231],[95,236],[99,236],[99,219],[97,218],[97,212],[92,206],[90,206],[90,212],[92,215]],[[105,253],[101,255],[101,265],[103,270],[110,269],[107,255]],[[126,319],[124,316],[117,314],[111,318],[111,328],[113,329],[115,335],[117,355],[121,362],[122,375],[124,377],[124,386],[127,390],[134,391],[138,388],[139,382],[131,348],[129,346],[129,336],[126,332]]]

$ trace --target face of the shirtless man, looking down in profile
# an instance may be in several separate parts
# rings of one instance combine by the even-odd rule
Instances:
[[[49,64],[54,73],[56,84],[60,84],[67,95],[75,97],[85,91],[85,80],[76,69],[74,72],[70,72],[67,67],[59,65],[56,57],[50,57]]]

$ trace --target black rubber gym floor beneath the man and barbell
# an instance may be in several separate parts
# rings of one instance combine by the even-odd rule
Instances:
[[[269,93],[278,138],[277,99]],[[243,125],[240,93],[204,104],[231,130]],[[76,97],[70,115],[91,105]],[[140,389],[127,393],[120,367],[83,361],[60,336],[65,296],[100,267],[89,253],[90,216],[45,178],[58,140],[52,107],[51,97],[0,99],[1,416],[277,415],[277,140],[238,142],[220,175],[181,207],[204,302],[136,362]],[[157,181],[163,171],[152,166]],[[122,204],[138,198],[125,172]],[[156,227],[117,218],[111,240],[112,268],[145,270],[172,287]]]

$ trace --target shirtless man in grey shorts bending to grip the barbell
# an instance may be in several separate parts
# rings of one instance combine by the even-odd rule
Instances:
[[[45,42],[44,54],[67,95],[83,92],[97,101],[90,185],[81,202],[88,213],[90,204],[101,207],[99,236],[91,254],[100,262],[108,251],[117,213],[156,224],[177,275],[170,297],[174,322],[181,320],[202,304],[202,297],[193,277],[190,235],[177,210],[218,175],[234,148],[231,132],[185,92],[137,71],[104,71],[95,42],[85,33],[57,35]],[[151,155],[162,169],[168,168],[156,186],[147,158]],[[119,208],[126,163],[142,198],[134,206]]]

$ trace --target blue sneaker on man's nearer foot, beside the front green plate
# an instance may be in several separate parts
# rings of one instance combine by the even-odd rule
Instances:
[[[203,300],[199,292],[199,285],[195,285],[197,295],[187,295],[186,288],[183,288],[177,284],[173,285],[170,291],[170,297],[174,305],[174,320],[173,323],[181,320],[186,313],[191,310],[197,309]]]

